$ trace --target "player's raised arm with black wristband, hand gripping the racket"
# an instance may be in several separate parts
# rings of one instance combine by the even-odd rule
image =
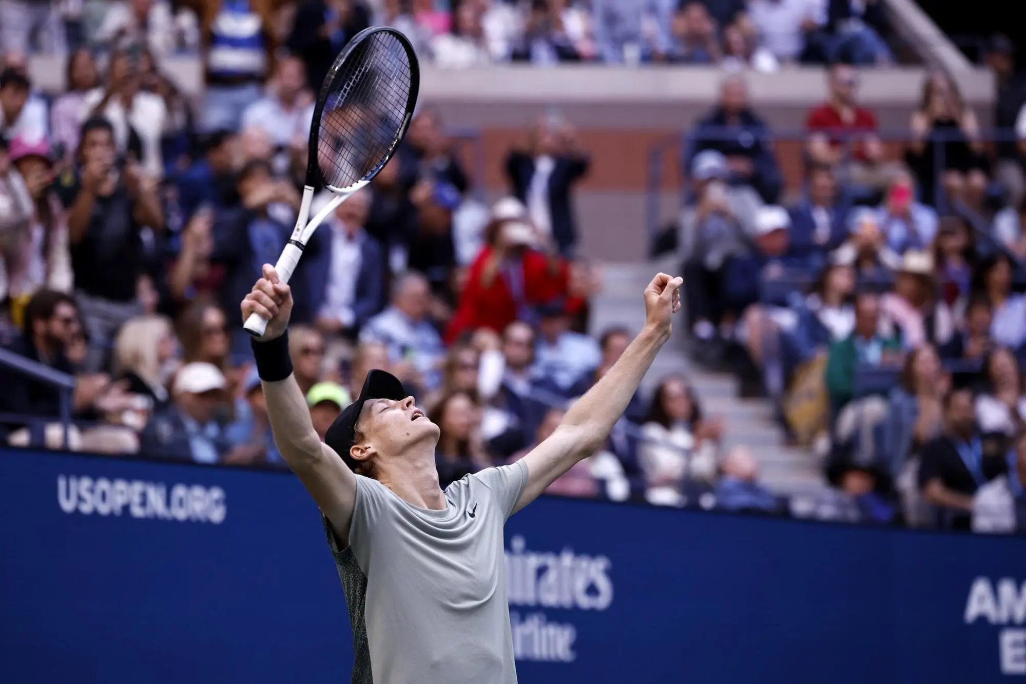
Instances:
[[[253,352],[274,442],[285,462],[331,522],[339,541],[348,544],[349,522],[356,500],[356,476],[314,432],[306,398],[289,372],[288,338],[283,336],[292,313],[292,293],[288,285],[278,280],[274,267],[268,264],[264,265],[264,277],[242,300],[242,320],[253,313],[270,319]],[[285,376],[279,377],[282,374]]]

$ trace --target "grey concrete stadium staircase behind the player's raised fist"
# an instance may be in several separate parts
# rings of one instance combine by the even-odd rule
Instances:
[[[676,275],[678,270],[672,261],[605,265],[602,292],[592,303],[591,331],[598,334],[611,325],[639,330],[644,323],[641,293],[645,285],[659,271]],[[815,456],[783,444],[768,401],[738,399],[732,375],[710,373],[688,361],[684,354],[682,316],[674,321],[673,338],[645,375],[643,392],[650,395],[659,378],[671,372],[683,373],[690,379],[707,414],[723,417],[726,448],[738,444],[752,447],[759,459],[761,478],[771,489],[797,494],[813,493],[826,486]]]

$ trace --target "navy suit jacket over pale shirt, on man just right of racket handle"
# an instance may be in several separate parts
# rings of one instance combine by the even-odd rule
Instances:
[[[356,277],[356,293],[353,300],[355,321],[353,327],[359,329],[368,318],[382,310],[385,305],[385,279],[382,270],[384,256],[381,244],[361,232],[360,273]],[[317,317],[317,311],[327,295],[327,282],[331,273],[331,229],[324,226],[314,233],[303,252],[305,272],[301,279],[309,294],[306,301],[293,298],[292,320],[310,323]]]

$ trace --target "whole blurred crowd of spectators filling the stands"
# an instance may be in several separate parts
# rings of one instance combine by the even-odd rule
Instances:
[[[772,491],[758,445],[727,448],[680,368],[550,491],[1026,531],[1015,44],[986,46],[993,122],[931,72],[911,142],[896,145],[860,100],[857,67],[903,53],[878,0],[0,0],[8,444],[285,467],[238,304],[291,231],[314,88],[371,25],[441,67],[723,67],[681,160],[683,208],[652,254],[685,278],[693,361],[768,398],[825,486],[801,501]],[[63,56],[63,91],[33,83],[35,52]],[[184,53],[202,62],[198,98],[163,69]],[[791,192],[745,73],[797,65],[823,66],[829,94],[805,118]],[[991,123],[996,145],[981,133]],[[637,332],[589,322],[603,274],[579,248],[587,146],[556,110],[521,125],[521,145],[485,160],[506,183],[485,203],[461,140],[423,106],[291,282],[295,376],[318,432],[387,368],[441,427],[443,486],[545,439]]]

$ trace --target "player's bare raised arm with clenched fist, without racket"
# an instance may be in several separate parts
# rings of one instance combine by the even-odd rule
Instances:
[[[574,464],[605,443],[660,348],[670,338],[670,317],[680,310],[682,282],[661,273],[648,283],[644,328],[620,360],[566,412],[552,436],[523,457],[527,485],[514,511],[530,504]]]

